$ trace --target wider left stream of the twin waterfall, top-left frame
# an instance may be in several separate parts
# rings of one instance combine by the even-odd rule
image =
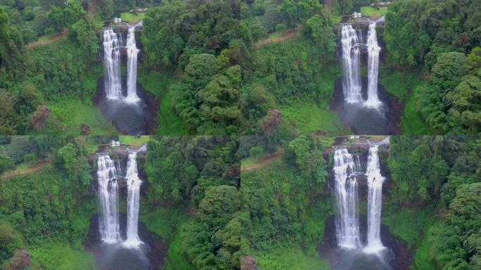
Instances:
[[[112,29],[103,31],[103,65],[107,75],[104,79],[105,97],[108,99],[122,98],[120,80],[120,41]]]

